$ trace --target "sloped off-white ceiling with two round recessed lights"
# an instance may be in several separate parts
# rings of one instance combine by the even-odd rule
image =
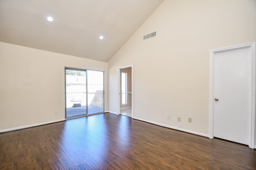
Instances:
[[[0,41],[108,62],[163,1],[0,0]]]

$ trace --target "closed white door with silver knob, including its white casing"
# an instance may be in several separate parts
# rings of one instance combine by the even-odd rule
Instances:
[[[255,42],[210,51],[209,113],[211,139],[254,148]]]

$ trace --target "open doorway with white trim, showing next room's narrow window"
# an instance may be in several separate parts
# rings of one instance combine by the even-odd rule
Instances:
[[[118,67],[118,114],[133,117],[132,65]]]

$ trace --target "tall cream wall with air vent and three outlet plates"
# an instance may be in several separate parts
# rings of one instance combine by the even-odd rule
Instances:
[[[210,49],[253,41],[255,0],[165,0],[108,62],[109,111],[117,112],[116,68],[133,64],[134,117],[207,136]]]

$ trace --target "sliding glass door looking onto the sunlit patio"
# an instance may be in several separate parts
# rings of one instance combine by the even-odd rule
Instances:
[[[104,113],[104,72],[65,68],[66,118]]]

